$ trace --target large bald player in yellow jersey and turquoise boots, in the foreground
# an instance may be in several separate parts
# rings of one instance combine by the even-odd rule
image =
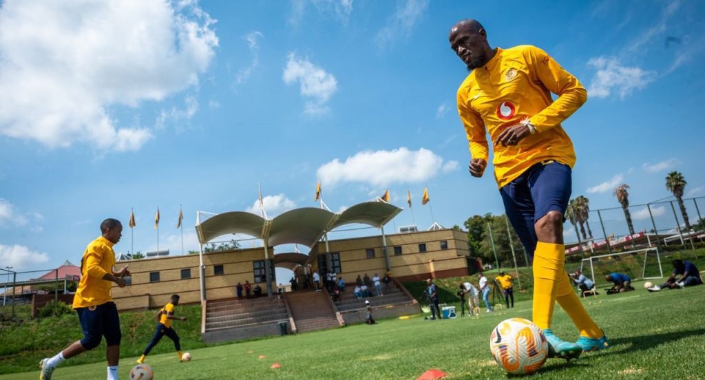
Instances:
[[[448,36],[470,75],[458,88],[458,113],[470,145],[470,175],[482,177],[493,142],[494,175],[509,220],[532,257],[533,321],[551,357],[572,359],[610,344],[572,291],[564,269],[563,215],[575,152],[560,123],[587,100],[587,91],[545,51],[492,49],[477,20],[461,20]],[[555,101],[551,92],[558,95]],[[580,331],[577,342],[551,331],[553,307],[563,307]]]

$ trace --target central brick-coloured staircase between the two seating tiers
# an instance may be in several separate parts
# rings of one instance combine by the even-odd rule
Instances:
[[[323,291],[284,293],[298,332],[331,329],[341,326],[329,294]]]

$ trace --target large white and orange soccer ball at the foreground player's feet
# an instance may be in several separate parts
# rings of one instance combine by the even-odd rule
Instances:
[[[510,374],[537,372],[548,357],[548,341],[539,326],[523,318],[501,321],[489,337],[497,364]]]

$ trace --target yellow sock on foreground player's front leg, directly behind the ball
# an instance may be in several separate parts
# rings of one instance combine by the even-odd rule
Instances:
[[[565,248],[562,244],[539,242],[534,252],[534,305],[532,319],[540,329],[551,328],[556,305],[558,278],[563,270]]]

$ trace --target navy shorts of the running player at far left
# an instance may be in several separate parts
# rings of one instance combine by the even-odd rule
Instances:
[[[76,309],[78,320],[83,329],[81,345],[86,350],[92,350],[100,344],[101,336],[105,337],[107,345],[120,345],[120,317],[114,302],[105,302],[92,307]]]

